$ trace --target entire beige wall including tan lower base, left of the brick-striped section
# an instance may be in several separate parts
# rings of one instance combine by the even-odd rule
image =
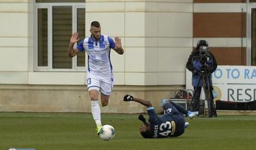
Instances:
[[[0,111],[90,112],[86,72],[34,71],[34,1],[0,0]],[[193,0],[88,0],[86,36],[98,20],[102,34],[120,36],[125,54],[111,53],[115,85],[102,112],[138,113],[124,94],[161,99],[184,88],[193,47]]]

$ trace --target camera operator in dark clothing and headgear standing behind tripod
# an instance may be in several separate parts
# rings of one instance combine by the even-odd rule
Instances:
[[[213,105],[212,96],[212,79],[211,73],[217,68],[215,57],[209,50],[207,41],[200,40],[197,42],[195,50],[191,52],[186,68],[192,72],[192,85],[194,87],[193,95],[193,111],[199,111],[200,94],[202,87],[209,87],[209,99],[211,110],[209,117],[217,117],[216,110]],[[209,101],[207,101],[209,102]]]

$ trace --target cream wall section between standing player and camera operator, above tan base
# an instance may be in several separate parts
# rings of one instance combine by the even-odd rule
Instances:
[[[99,20],[102,33],[121,36],[125,54],[111,56],[116,84],[184,85],[193,47],[192,11],[192,0],[89,0],[86,29]]]

